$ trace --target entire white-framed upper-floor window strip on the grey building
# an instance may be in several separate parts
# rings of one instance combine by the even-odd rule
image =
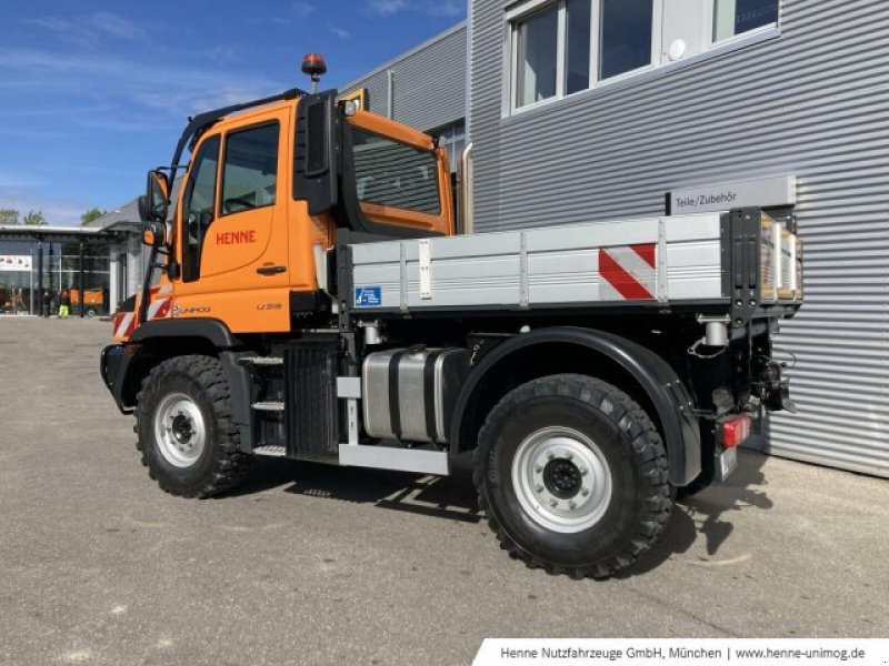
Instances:
[[[779,2],[527,0],[506,11],[511,40],[508,110],[575,94],[777,27]]]

